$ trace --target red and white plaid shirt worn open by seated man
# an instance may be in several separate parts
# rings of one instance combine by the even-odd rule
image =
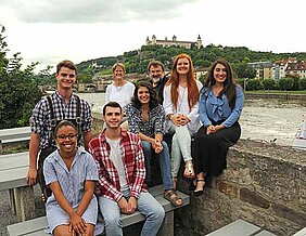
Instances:
[[[118,201],[124,195],[120,193],[118,171],[110,159],[111,146],[106,142],[104,132],[89,142],[89,152],[98,165],[98,195]],[[141,192],[146,192],[144,155],[141,142],[137,134],[122,130],[119,146],[130,196],[138,199]]]

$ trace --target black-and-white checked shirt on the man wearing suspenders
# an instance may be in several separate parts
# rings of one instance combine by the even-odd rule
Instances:
[[[54,119],[75,119],[77,117],[77,99],[76,95],[72,95],[67,104],[58,91],[51,94],[51,101],[53,105]],[[80,118],[81,118],[81,132],[88,132],[91,130],[91,112],[90,106],[86,101],[80,99]],[[51,110],[46,97],[42,97],[34,107],[30,117],[31,132],[40,135],[39,148],[46,148],[49,146],[49,137],[51,135]],[[52,139],[52,145],[55,146]]]

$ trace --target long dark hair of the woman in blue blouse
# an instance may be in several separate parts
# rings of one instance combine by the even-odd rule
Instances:
[[[235,105],[235,81],[233,78],[233,73],[232,73],[232,68],[230,66],[230,64],[225,61],[225,60],[217,60],[216,62],[214,62],[214,64],[211,66],[209,71],[208,71],[208,77],[207,80],[205,82],[205,87],[209,87],[212,88],[212,86],[214,86],[216,83],[216,80],[214,78],[214,70],[215,67],[217,66],[217,64],[221,64],[226,67],[226,71],[227,71],[227,79],[224,82],[224,89],[220,92],[220,95],[224,93],[228,101],[229,101],[229,105],[231,108],[234,107]]]

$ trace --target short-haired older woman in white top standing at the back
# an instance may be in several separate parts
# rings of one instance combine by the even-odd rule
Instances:
[[[131,102],[135,86],[124,79],[126,68],[123,63],[115,63],[112,67],[114,81],[106,87],[105,104],[109,102],[117,102],[124,108]]]

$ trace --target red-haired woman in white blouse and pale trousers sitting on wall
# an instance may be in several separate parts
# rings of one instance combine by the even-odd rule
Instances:
[[[194,178],[191,136],[200,128],[199,91],[202,87],[202,83],[195,80],[191,57],[188,54],[177,55],[171,76],[164,89],[163,103],[169,132],[175,132],[171,145],[171,173],[175,185],[181,156],[186,163],[183,175]]]

